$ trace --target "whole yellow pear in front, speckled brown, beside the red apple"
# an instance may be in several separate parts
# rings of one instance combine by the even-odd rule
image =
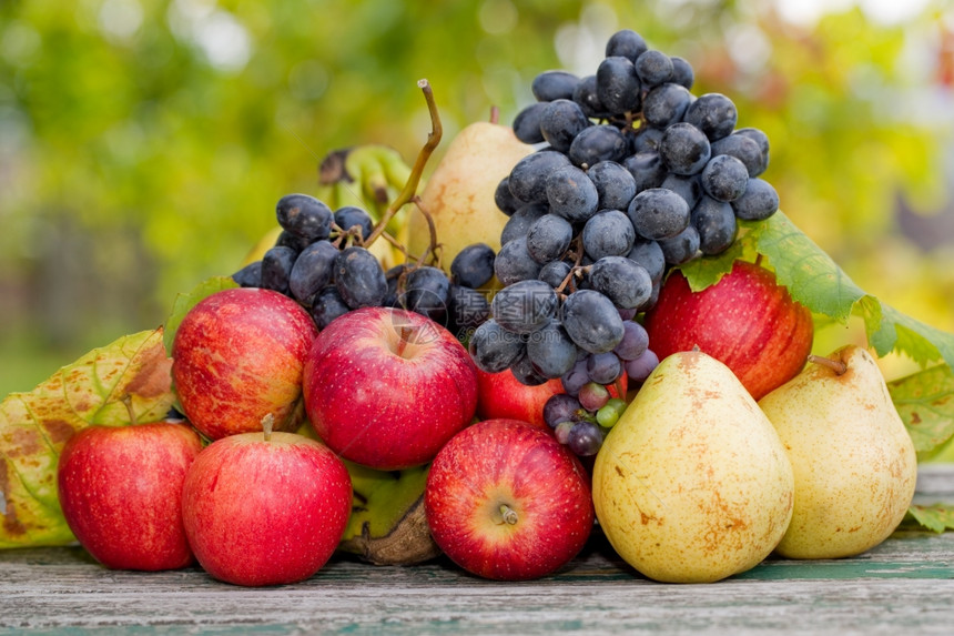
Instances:
[[[674,353],[600,448],[593,504],[612,547],[643,575],[706,583],[768,556],[794,482],[779,436],[728,366]]]

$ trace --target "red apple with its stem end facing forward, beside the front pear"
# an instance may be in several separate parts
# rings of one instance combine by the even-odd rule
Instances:
[[[487,420],[454,436],[424,491],[435,543],[464,569],[500,581],[556,572],[593,525],[589,477],[552,435]]]

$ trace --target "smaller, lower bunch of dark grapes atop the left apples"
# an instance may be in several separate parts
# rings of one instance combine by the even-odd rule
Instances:
[[[346,206],[333,212],[314,196],[288,194],[275,213],[282,226],[275,246],[232,277],[243,287],[294,299],[318,329],[353,310],[393,306],[426,315],[465,337],[490,313],[477,291],[494,276],[496,254],[488,245],[461,251],[450,277],[439,267],[414,263],[385,271],[363,244],[374,231],[367,211]]]

